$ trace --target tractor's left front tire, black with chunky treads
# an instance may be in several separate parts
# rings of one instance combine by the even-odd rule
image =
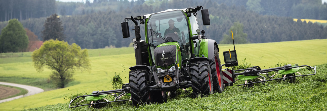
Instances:
[[[148,104],[149,92],[146,88],[146,69],[135,69],[129,71],[129,87],[132,103],[134,106]]]

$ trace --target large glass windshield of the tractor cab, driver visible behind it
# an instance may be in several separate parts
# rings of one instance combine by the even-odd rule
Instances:
[[[181,10],[151,15],[147,21],[146,30],[152,55],[154,48],[159,44],[178,42],[180,44],[182,58],[188,58],[187,46],[190,44],[190,31],[188,27],[187,18]],[[152,60],[154,60],[153,56]]]

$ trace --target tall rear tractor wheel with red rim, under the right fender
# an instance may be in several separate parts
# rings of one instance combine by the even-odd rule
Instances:
[[[224,80],[223,80],[223,73],[221,71],[218,48],[217,48],[216,45],[215,45],[214,51],[215,51],[215,58],[209,60],[211,75],[212,75],[212,81],[213,81],[214,91],[222,93],[224,91]]]

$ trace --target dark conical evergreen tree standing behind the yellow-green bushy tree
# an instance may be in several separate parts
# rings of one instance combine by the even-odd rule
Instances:
[[[63,27],[61,26],[60,18],[57,16],[57,14],[53,14],[49,18],[46,18],[43,25],[44,30],[42,31],[43,41],[50,39],[58,39],[60,41],[65,40],[66,37],[63,33]]]

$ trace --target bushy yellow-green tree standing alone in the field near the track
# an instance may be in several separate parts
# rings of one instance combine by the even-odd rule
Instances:
[[[83,49],[73,43],[58,40],[49,40],[43,43],[40,49],[32,54],[34,67],[38,72],[43,71],[43,66],[52,70],[50,79],[57,87],[64,88],[65,85],[73,81],[73,73],[76,69],[90,71],[88,50]]]

